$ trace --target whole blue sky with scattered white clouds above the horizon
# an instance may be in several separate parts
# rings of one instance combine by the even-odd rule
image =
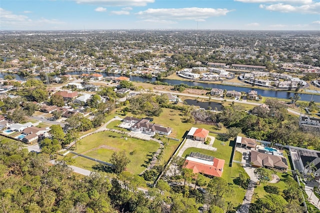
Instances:
[[[1,0],[0,29],[320,30],[320,0]]]

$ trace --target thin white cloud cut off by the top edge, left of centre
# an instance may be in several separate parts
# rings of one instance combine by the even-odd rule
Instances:
[[[77,3],[98,4],[105,6],[145,6],[154,0],[75,0]]]

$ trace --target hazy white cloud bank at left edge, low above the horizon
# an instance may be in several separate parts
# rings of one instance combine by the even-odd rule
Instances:
[[[6,29],[40,29],[45,26],[46,28],[54,27],[51,25],[61,25],[64,22],[57,19],[30,19],[26,15],[17,15],[9,10],[0,8],[0,23],[2,28]]]

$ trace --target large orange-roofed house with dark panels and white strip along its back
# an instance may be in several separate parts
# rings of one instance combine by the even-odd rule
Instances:
[[[184,160],[183,167],[192,169],[193,173],[201,173],[207,176],[222,176],[224,159],[191,152]]]

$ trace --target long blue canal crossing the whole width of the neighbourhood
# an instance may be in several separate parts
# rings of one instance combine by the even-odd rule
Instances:
[[[68,74],[71,75],[80,75],[82,73],[95,73],[93,71],[71,71],[68,72]],[[113,73],[106,73],[106,72],[96,72],[102,74],[105,76],[120,76],[119,74],[113,74]],[[3,78],[3,76],[7,75],[9,73],[3,73],[0,72],[0,78]],[[17,80],[24,80],[23,76],[13,74]],[[55,77],[55,76],[54,76]],[[145,82],[145,81],[155,81],[156,79],[153,78],[146,78],[141,76],[128,76],[131,81],[137,81],[137,82]],[[202,82],[194,82],[194,81],[184,81],[184,80],[173,80],[173,79],[161,79],[161,82],[166,82],[170,85],[180,84],[184,83],[189,86],[203,86],[204,88],[220,88],[220,89],[226,89],[226,90],[235,90],[235,91],[244,91],[248,92],[249,90],[252,90],[252,88],[249,87],[241,87],[241,86],[233,86],[233,85],[222,85],[222,84],[214,84],[214,83],[202,83]],[[253,90],[257,91],[258,94],[262,95],[263,97],[276,97],[276,98],[282,98],[282,99],[289,99],[290,97],[293,97],[294,92],[289,91],[279,91],[279,90],[266,90],[266,89],[259,89],[254,88]],[[298,93],[300,96],[300,100],[310,101],[314,100],[315,102],[320,102],[320,95],[317,94],[305,94],[305,93]]]

